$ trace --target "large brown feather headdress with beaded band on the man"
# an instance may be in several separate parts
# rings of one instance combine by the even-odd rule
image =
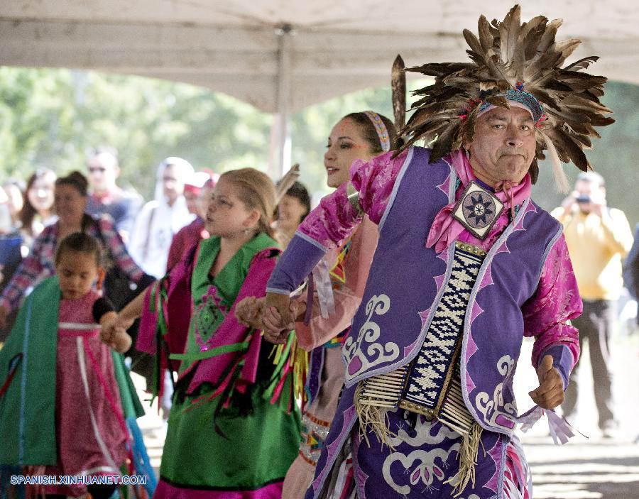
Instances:
[[[400,131],[408,136],[400,150],[415,141],[433,141],[431,161],[442,158],[472,141],[476,120],[487,106],[525,105],[535,120],[537,150],[530,166],[537,180],[537,159],[550,153],[558,184],[567,187],[560,161],[572,161],[579,170],[591,168],[584,148],[598,137],[596,126],[614,122],[603,106],[603,76],[585,70],[599,57],[584,57],[562,67],[579,40],[556,41],[561,19],[537,16],[520,22],[520,6],[510,9],[503,21],[479,18],[479,37],[464,30],[471,62],[445,62],[410,67],[406,71],[435,77],[435,84],[416,90],[421,96],[415,112]],[[398,151],[399,152],[399,151]],[[558,177],[558,178],[557,178]]]

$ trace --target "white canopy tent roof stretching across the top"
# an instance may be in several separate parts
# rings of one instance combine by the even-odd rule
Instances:
[[[0,4],[0,65],[72,67],[202,85],[287,116],[346,92],[388,84],[406,65],[464,60],[463,28],[503,18],[512,1],[471,0],[10,0]],[[574,58],[639,84],[639,3],[539,0],[522,18],[564,18]]]

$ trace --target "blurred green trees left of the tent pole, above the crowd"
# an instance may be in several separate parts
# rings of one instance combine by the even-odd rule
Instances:
[[[72,70],[0,67],[0,172],[86,170],[96,146],[119,150],[122,177],[146,197],[170,155],[215,171],[265,168],[271,117],[187,84]]]

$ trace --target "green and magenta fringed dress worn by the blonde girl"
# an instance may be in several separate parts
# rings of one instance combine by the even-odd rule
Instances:
[[[300,439],[290,344],[276,364],[273,345],[234,316],[241,299],[264,295],[279,253],[275,246],[259,234],[213,278],[219,238],[210,238],[200,243],[192,264],[175,268],[149,292],[148,313],[155,309],[160,316],[157,344],[173,333],[176,312],[168,302],[179,292],[178,280],[188,280],[192,297],[185,353],[172,356],[181,364],[155,498],[281,495]]]

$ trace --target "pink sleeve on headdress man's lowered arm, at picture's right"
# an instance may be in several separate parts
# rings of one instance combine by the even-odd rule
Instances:
[[[563,234],[550,248],[537,292],[524,304],[522,312],[525,336],[535,337],[532,366],[537,368],[543,356],[550,353],[559,363],[559,372],[564,371],[562,377],[568,378],[579,358],[579,331],[569,320],[581,314],[581,297]],[[565,347],[569,355],[555,350],[555,346]]]

